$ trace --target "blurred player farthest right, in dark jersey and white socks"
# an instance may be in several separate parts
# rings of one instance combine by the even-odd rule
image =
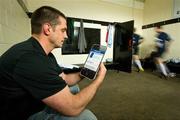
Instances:
[[[163,32],[161,26],[157,26],[155,28],[155,31],[157,33],[156,35],[156,54],[155,54],[155,63],[157,68],[160,70],[163,76],[165,77],[171,77],[171,73],[168,70],[167,66],[163,63],[162,56],[166,51],[169,49],[171,38],[169,35],[165,32]]]

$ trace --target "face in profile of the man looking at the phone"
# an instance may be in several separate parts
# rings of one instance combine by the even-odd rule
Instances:
[[[67,39],[67,25],[63,17],[59,17],[59,24],[54,27],[50,36],[50,42],[55,48],[62,47],[64,40]]]

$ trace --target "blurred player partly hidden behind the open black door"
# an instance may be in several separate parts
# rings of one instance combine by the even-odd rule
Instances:
[[[138,68],[138,71],[144,71],[141,61],[139,60],[139,45],[143,42],[143,38],[136,34],[136,28],[134,28],[134,34],[133,34],[133,62]]]

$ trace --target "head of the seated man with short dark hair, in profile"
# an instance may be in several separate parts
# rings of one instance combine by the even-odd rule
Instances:
[[[40,7],[32,14],[31,28],[33,35],[41,36],[44,40],[47,39],[44,42],[53,48],[62,47],[67,38],[65,15],[49,6]]]

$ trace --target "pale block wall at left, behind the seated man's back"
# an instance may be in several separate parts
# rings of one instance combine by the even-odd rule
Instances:
[[[30,36],[29,18],[16,0],[0,0],[0,55]]]

